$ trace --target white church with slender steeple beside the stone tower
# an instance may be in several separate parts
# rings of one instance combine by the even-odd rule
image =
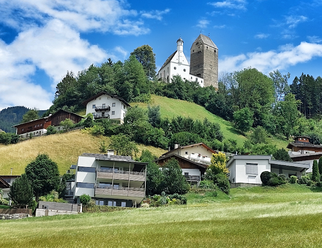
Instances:
[[[203,87],[203,78],[190,74],[190,65],[183,52],[183,40],[177,41],[177,51],[174,52],[157,73],[158,79],[170,83],[173,76],[180,75],[182,79],[197,81]]]

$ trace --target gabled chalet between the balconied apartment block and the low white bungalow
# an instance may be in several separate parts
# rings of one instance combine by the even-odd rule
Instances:
[[[197,184],[203,177],[213,153],[217,153],[203,143],[189,146],[175,145],[175,149],[154,160],[163,166],[171,158],[178,160],[182,174],[190,184]]]

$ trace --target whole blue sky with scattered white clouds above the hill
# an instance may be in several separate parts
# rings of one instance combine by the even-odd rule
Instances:
[[[124,61],[148,44],[160,68],[200,32],[219,49],[219,73],[322,76],[322,1],[0,0],[0,109],[46,109],[55,86],[108,58]]]

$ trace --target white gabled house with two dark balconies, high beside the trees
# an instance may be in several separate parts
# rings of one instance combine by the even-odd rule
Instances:
[[[125,113],[130,107],[123,98],[100,92],[82,103],[86,106],[86,114],[92,113],[94,119],[109,118],[124,122]]]

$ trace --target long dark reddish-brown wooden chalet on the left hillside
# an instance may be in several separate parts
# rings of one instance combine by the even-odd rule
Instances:
[[[71,119],[73,123],[78,123],[83,117],[76,113],[60,109],[49,116],[17,124],[13,128],[16,128],[16,134],[23,138],[27,138],[30,134],[33,136],[41,136],[47,133],[49,126],[54,126],[59,130],[60,121],[67,118]]]

